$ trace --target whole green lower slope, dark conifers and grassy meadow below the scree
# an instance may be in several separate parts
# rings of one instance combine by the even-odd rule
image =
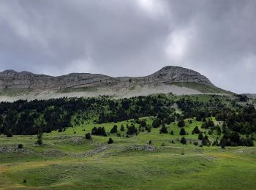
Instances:
[[[255,189],[246,96],[0,103],[0,189]]]

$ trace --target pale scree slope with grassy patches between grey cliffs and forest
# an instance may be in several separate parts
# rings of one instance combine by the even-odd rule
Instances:
[[[129,86],[129,88],[112,87],[73,87],[61,89],[0,89],[1,101],[17,101],[19,99],[52,99],[60,97],[94,97],[108,95],[115,99],[130,98],[132,96],[147,96],[150,94],[227,94],[234,95],[230,91],[222,90],[216,86],[208,86],[201,83],[153,83],[149,85]]]

